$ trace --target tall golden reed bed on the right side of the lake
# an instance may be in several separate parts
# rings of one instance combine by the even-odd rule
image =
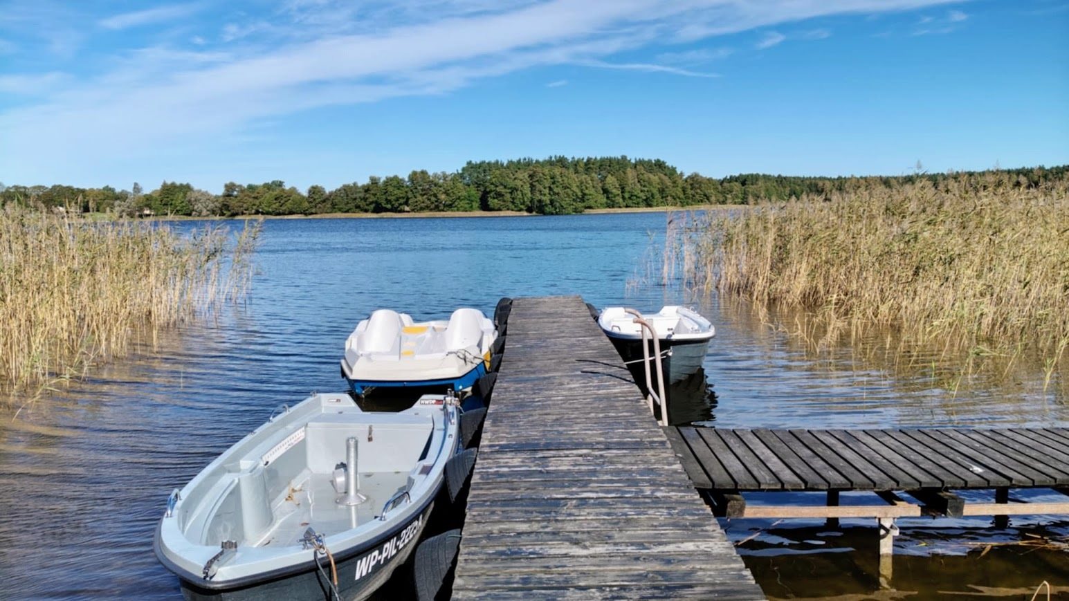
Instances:
[[[1069,346],[1069,182],[1005,174],[711,214],[685,276],[722,295],[805,310],[821,343],[893,332],[963,356]]]

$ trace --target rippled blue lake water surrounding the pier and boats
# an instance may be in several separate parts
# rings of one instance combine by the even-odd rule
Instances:
[[[18,419],[0,413],[0,598],[179,597],[177,580],[152,553],[168,493],[281,404],[344,389],[338,360],[345,338],[379,307],[422,320],[458,306],[492,313],[501,296],[695,306],[717,333],[708,382],[679,392],[688,397],[673,409],[676,420],[1069,426],[1065,384],[1054,374],[1044,390],[1041,366],[1018,366],[995,383],[958,379],[923,350],[889,361],[865,358],[866,344],[814,355],[772,326],[790,329],[785,315],[762,320],[745,305],[657,286],[647,269],[657,261],[648,252],[662,245],[665,221],[653,213],[265,221],[246,303],[96,369]],[[1008,528],[989,518],[901,520],[895,589],[882,591],[869,522],[845,520],[839,529],[812,521],[723,524],[776,598],[1027,599],[1043,580],[1069,586],[1066,519],[1014,518]]]

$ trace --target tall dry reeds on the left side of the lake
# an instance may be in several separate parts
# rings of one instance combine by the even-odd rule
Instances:
[[[249,284],[259,224],[181,236],[131,221],[0,210],[0,388],[43,386],[125,355]]]

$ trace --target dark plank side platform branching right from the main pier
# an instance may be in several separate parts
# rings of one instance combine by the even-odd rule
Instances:
[[[1008,504],[1008,490],[1050,488],[1069,495],[1069,430],[885,429],[766,430],[668,428],[691,480],[713,491],[728,517],[883,517],[920,514],[893,491],[917,498],[925,512],[961,515],[1069,513],[1065,503]],[[991,489],[993,504],[965,504],[951,491]],[[747,508],[747,491],[884,493],[886,507]],[[837,503],[830,503],[837,505]]]

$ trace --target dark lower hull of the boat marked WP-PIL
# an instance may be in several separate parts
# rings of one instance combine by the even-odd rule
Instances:
[[[427,526],[434,503],[429,503],[418,514],[399,525],[386,536],[368,544],[348,550],[331,550],[338,570],[338,592],[342,599],[367,599],[378,589],[393,571],[404,564],[416,549],[420,535]],[[158,539],[157,539],[158,540]],[[157,542],[158,544],[158,542]],[[308,551],[309,557],[312,551]],[[157,556],[164,557],[158,551]],[[324,572],[330,574],[329,561],[320,559]],[[174,568],[171,568],[175,571]],[[180,573],[183,596],[190,601],[254,601],[330,599],[329,582],[314,563],[303,566],[298,571],[284,574],[263,574],[252,582],[238,585],[226,584],[212,587],[202,579],[189,579]]]

